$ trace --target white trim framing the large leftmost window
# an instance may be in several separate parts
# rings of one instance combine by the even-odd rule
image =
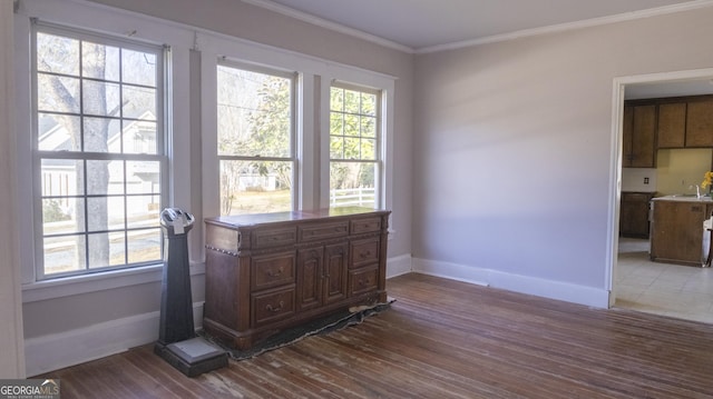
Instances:
[[[19,260],[22,265],[23,301],[57,298],[67,295],[98,291],[149,281],[160,281],[162,263],[92,275],[74,276],[45,281],[36,281],[35,229],[32,198],[32,142],[31,142],[31,47],[30,18],[96,31],[114,37],[130,37],[131,40],[172,48],[169,68],[166,73],[166,140],[168,156],[168,202],[174,207],[191,209],[191,132],[189,132],[189,49],[194,43],[194,32],[139,13],[123,11],[82,1],[23,0],[14,16],[16,58],[16,142],[18,157],[18,203],[17,226],[20,241]],[[25,87],[25,90],[22,88]],[[173,130],[173,131],[172,131]],[[186,177],[176,178],[176,177]],[[192,238],[192,241],[198,238]],[[194,257],[195,258],[195,257]],[[195,263],[195,262],[194,262]],[[202,272],[202,265],[193,271]]]

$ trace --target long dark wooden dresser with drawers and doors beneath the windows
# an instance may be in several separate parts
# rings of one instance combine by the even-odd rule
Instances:
[[[389,213],[336,208],[206,219],[203,328],[247,349],[329,312],[385,301]]]

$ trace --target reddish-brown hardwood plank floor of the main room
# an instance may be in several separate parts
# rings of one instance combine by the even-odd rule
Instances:
[[[422,275],[392,308],[191,379],[152,346],[48,373],[67,398],[713,398],[713,326]]]

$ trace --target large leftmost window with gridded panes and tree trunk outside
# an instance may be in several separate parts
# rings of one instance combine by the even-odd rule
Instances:
[[[164,49],[33,27],[38,279],[160,262]]]

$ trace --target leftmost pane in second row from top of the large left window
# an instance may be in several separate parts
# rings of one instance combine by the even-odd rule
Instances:
[[[38,73],[37,109],[79,113],[79,79]]]

